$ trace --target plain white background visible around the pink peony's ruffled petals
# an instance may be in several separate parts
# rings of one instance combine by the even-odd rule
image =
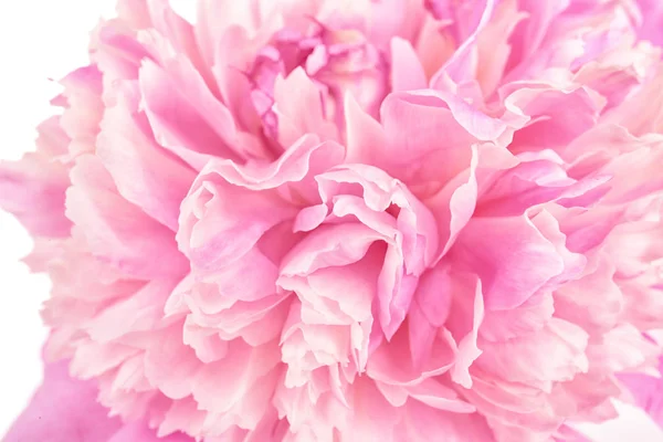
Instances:
[[[245,0],[235,0],[245,1]],[[541,0],[546,1],[546,0]],[[87,62],[87,35],[113,0],[3,0],[0,4],[0,159],[33,149],[34,127],[52,115],[49,99],[60,78]],[[173,1],[191,17],[193,0]],[[39,309],[49,292],[44,275],[29,274],[19,260],[31,249],[28,233],[0,211],[0,436],[41,381],[40,350],[46,330]],[[638,429],[636,431],[634,431]],[[590,428],[599,441],[663,441],[639,412],[624,409],[618,421]],[[48,441],[25,441],[48,442]]]

